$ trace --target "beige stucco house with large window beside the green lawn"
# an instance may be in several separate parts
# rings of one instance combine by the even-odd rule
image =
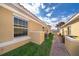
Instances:
[[[41,44],[49,27],[22,5],[0,4],[0,54],[26,43]]]

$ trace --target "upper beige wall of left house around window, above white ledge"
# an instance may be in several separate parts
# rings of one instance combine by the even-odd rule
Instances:
[[[0,42],[8,41],[14,38],[14,26],[13,26],[13,17],[18,16],[28,20],[28,35],[32,34],[30,31],[43,31],[43,26],[35,21],[33,18],[30,18],[26,15],[26,18],[20,14],[11,12],[3,7],[0,7],[0,26],[1,26],[1,34],[0,34]],[[5,30],[6,29],[6,30]],[[45,28],[46,29],[46,28]],[[46,29],[47,30],[47,29]],[[45,31],[46,31],[45,30]],[[40,32],[39,32],[40,33]],[[44,36],[44,34],[43,34]],[[40,36],[39,36],[40,38]]]

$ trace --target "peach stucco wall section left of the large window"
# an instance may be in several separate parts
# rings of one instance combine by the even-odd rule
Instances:
[[[13,37],[12,12],[0,6],[0,42],[11,40]]]

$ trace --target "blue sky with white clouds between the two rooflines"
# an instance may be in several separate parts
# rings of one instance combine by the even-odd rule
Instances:
[[[79,12],[79,3],[24,3],[22,5],[52,27],[58,22],[66,22]]]

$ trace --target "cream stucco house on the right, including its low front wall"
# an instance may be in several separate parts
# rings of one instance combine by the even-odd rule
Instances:
[[[61,26],[60,32],[65,36],[65,46],[70,55],[79,55],[79,13]]]

